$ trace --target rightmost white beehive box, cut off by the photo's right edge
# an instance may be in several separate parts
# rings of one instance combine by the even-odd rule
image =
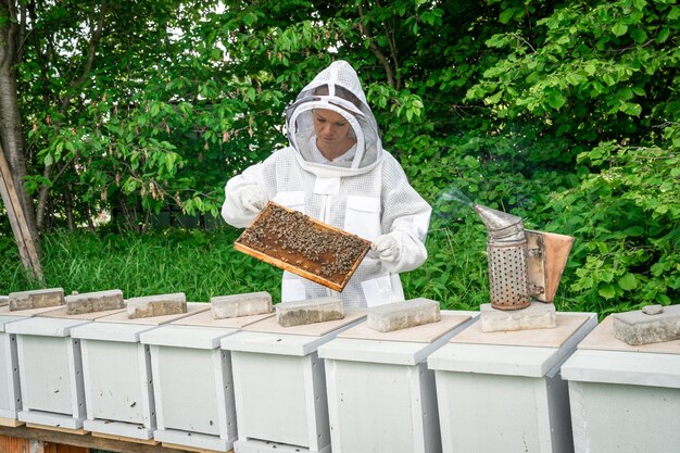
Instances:
[[[577,453],[680,452],[680,340],[632,347],[602,322],[563,365]]]

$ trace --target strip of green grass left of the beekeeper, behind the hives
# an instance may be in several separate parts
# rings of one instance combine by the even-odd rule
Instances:
[[[0,294],[61,287],[66,294],[121,289],[126,298],[185,292],[187,300],[251,291],[280,294],[280,270],[232,248],[238,231],[166,229],[148,235],[60,231],[43,236],[45,285],[18,264],[0,238]]]

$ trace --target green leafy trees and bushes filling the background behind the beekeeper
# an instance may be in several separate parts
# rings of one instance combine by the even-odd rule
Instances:
[[[345,59],[364,81],[385,148],[433,206],[430,259],[403,276],[408,297],[463,309],[488,298],[486,234],[476,214],[451,198],[458,189],[522,216],[529,228],[576,238],[559,309],[605,314],[675,303],[675,3],[263,0],[218,9],[210,0],[126,0],[109,4],[97,42],[89,24],[99,3],[36,3],[38,20],[28,22],[35,39],[25,42],[17,66],[26,187],[36,197],[49,188],[55,226],[70,209],[77,224],[108,210],[133,230],[171,206],[217,216],[226,179],[286,146],[286,105],[331,60]],[[89,45],[96,58],[84,72]],[[206,251],[202,240],[178,235],[188,248]],[[214,244],[218,234],[204,235]],[[138,255],[161,250],[148,247],[158,237],[123,236],[144,251]],[[104,247],[100,253],[115,242],[92,238],[78,241]],[[87,251],[68,235],[45,241],[52,284],[72,281],[62,267],[104,273],[85,270],[78,256]],[[50,262],[61,253],[58,241],[74,250],[59,265]],[[2,256],[11,250],[0,246]],[[153,253],[141,267],[121,259],[116,272],[123,263],[137,269],[165,263]],[[278,288],[270,266],[217,253],[229,278],[244,281],[230,289],[262,280]],[[164,270],[148,287],[126,275],[126,291],[192,293],[196,281],[180,277],[179,267],[159,267]],[[7,284],[12,288],[29,285],[12,266],[2,272],[11,274],[1,281],[14,281]]]

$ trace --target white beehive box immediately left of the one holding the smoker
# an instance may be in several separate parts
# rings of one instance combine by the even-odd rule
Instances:
[[[427,356],[475,315],[444,311],[438,323],[390,332],[362,323],[322,345],[333,453],[441,452]]]

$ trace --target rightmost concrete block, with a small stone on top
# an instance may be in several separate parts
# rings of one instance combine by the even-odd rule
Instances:
[[[648,305],[613,317],[614,337],[631,345],[680,339],[680,305]]]

